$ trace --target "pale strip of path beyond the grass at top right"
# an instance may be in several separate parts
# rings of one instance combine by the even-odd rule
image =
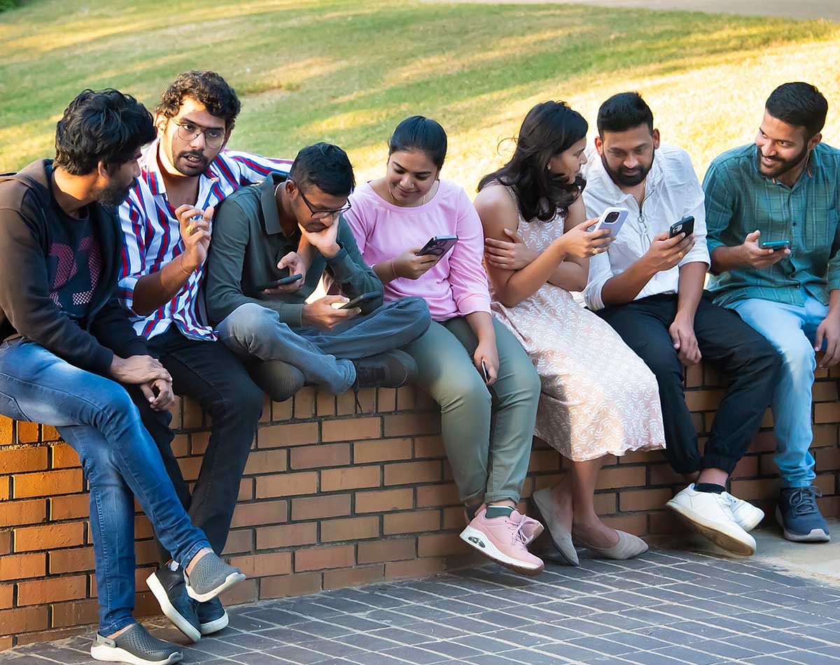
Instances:
[[[748,16],[785,16],[787,18],[826,18],[840,21],[837,0],[423,0],[423,2],[488,4],[587,4],[596,7],[631,7],[648,9],[685,9],[692,12],[722,12]]]

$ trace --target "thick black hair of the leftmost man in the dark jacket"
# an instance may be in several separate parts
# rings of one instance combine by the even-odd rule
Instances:
[[[118,90],[83,90],[55,125],[54,165],[71,175],[87,175],[134,159],[137,149],[155,139],[146,107]]]

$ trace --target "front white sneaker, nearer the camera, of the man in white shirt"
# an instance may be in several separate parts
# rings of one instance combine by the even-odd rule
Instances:
[[[724,495],[698,492],[692,483],[665,505],[728,552],[747,557],[755,553],[755,539],[735,520]]]

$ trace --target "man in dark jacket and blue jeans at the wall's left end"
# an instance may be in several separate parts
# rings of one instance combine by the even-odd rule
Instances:
[[[57,125],[55,160],[0,176],[0,413],[57,427],[79,453],[100,594],[91,654],[115,662],[182,658],[132,616],[132,495],[185,566],[191,595],[206,600],[244,579],[192,526],[123,388],[159,411],[174,399],[170,374],[115,296],[122,234],[114,206],[139,175],[140,147],[154,138],[134,97],[86,90]]]

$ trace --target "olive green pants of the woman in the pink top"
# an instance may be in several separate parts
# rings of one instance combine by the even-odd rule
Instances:
[[[433,321],[403,348],[417,361],[417,386],[440,405],[446,454],[460,499],[470,505],[519,501],[537,417],[537,370],[495,317],[493,327],[499,375],[489,388],[472,362],[478,339],[464,317]]]

